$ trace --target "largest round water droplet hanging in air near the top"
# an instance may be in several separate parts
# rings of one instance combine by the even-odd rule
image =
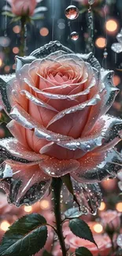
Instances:
[[[76,6],[68,6],[65,9],[65,16],[69,20],[75,20],[79,16],[79,9]]]

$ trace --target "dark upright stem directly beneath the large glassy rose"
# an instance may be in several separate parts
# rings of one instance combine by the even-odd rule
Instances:
[[[56,219],[57,236],[61,245],[62,256],[66,256],[65,239],[62,232],[61,226],[61,178],[52,179],[52,191],[54,195],[54,215]]]

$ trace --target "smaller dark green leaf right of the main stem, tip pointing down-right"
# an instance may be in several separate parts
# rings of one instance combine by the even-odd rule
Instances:
[[[87,239],[94,243],[96,246],[97,244],[94,241],[91,229],[87,225],[87,223],[80,219],[73,219],[69,221],[69,228],[71,229],[72,233],[80,238]]]

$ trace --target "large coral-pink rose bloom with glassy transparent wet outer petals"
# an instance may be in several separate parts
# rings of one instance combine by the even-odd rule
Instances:
[[[96,183],[115,177],[122,163],[114,149],[122,120],[106,114],[118,92],[112,76],[92,53],[75,54],[57,41],[18,57],[16,74],[1,76],[0,104],[12,119],[13,137],[0,140],[0,186],[9,202],[31,205],[52,177],[69,173],[79,203],[96,212]]]

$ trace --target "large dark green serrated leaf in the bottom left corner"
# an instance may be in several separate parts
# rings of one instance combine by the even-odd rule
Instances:
[[[46,239],[46,219],[37,213],[28,214],[6,232],[0,246],[0,256],[31,256],[44,247]]]

